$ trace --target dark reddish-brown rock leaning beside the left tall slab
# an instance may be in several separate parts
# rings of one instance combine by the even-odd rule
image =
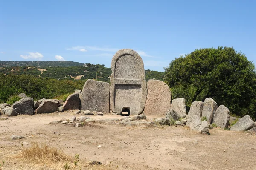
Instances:
[[[63,104],[63,110],[77,110],[80,109],[80,98],[79,98],[79,94],[78,93],[73,93],[71,95],[69,95],[65,101],[65,103]]]

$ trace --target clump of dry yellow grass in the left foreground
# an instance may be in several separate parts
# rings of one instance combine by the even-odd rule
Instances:
[[[50,147],[47,144],[31,143],[31,147],[23,147],[18,154],[25,162],[36,164],[54,164],[56,162],[73,161],[61,148]]]

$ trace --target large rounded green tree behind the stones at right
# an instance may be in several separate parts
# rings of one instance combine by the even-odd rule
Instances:
[[[256,118],[255,66],[233,48],[196,49],[175,58],[165,68],[165,81],[172,98],[185,98],[188,106],[213,98],[236,115]]]

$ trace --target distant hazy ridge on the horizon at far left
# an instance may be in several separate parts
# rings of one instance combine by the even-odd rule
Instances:
[[[0,67],[20,67],[20,66],[34,66],[34,67],[70,67],[82,66],[83,63],[74,61],[0,61]]]

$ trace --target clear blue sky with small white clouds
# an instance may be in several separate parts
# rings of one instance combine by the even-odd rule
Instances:
[[[0,60],[105,64],[131,48],[163,71],[198,48],[229,46],[256,63],[254,0],[0,0]]]

